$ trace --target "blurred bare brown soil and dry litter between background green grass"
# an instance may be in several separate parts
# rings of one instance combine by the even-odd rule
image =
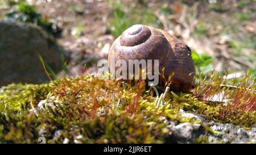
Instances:
[[[234,49],[229,47],[233,40],[255,39],[256,31],[253,27],[255,24],[253,19],[255,18],[239,22],[233,16],[234,12],[253,12],[255,3],[243,9],[238,9],[236,1],[225,1],[220,3],[223,10],[210,11],[209,7],[213,5],[207,1],[181,3],[178,1],[138,0],[135,3],[134,1],[124,0],[121,2],[122,5],[127,7],[126,9],[136,6],[145,11],[148,9],[154,14],[163,5],[172,7],[175,15],[165,16],[163,20],[166,21],[161,20],[160,22],[163,25],[166,22],[167,27],[163,26],[162,28],[172,32],[172,35],[183,40],[196,52],[214,57],[213,65],[217,72],[224,73],[225,68],[228,68],[231,72],[244,72],[244,70],[255,67],[253,60],[247,61],[248,58],[251,58],[251,55],[256,53],[255,48],[246,49],[245,55],[240,53],[238,56],[234,56]],[[110,1],[31,0],[31,4],[38,9],[40,14],[63,28],[61,35],[56,37],[56,41],[71,54],[71,61],[69,62],[72,64],[72,75],[81,75],[84,64],[92,66],[95,65],[94,62],[97,62],[97,60],[108,57],[108,50],[115,39],[108,31],[109,20],[113,16]],[[140,5],[146,7],[142,8]],[[187,12],[183,16],[182,11],[186,7]],[[195,13],[196,18],[193,13]],[[200,22],[206,23],[208,35],[201,38],[191,37]],[[189,27],[185,27],[187,25]],[[189,30],[189,28],[191,29]],[[238,32],[233,32],[235,29]],[[189,37],[185,36],[187,32],[189,32]]]

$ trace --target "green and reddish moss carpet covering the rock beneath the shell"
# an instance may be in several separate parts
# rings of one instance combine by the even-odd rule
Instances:
[[[208,122],[255,125],[255,78],[245,76],[236,87],[228,87],[218,77],[200,80],[191,93],[147,87],[142,80],[121,82],[90,75],[4,86],[0,142],[38,143],[43,136],[47,143],[164,143],[170,133],[164,120],[201,124],[217,134],[199,120],[184,118],[180,110]],[[222,100],[213,101],[219,93]],[[205,143],[204,136],[195,143]]]

